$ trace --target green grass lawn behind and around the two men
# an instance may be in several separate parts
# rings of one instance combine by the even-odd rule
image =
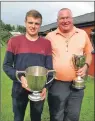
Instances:
[[[5,48],[2,47],[1,60],[3,61]],[[12,80],[1,71],[1,120],[13,121],[12,101],[11,101]],[[29,104],[26,109],[25,120],[30,121]],[[49,121],[47,100],[45,101],[42,114],[42,121]],[[94,80],[89,77],[86,81],[85,95],[82,103],[80,121],[94,121]]]

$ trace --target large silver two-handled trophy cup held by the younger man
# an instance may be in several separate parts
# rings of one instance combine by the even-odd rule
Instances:
[[[48,74],[50,72],[53,73],[53,78],[46,82]],[[30,66],[26,68],[25,71],[16,71],[16,77],[18,80],[19,73],[24,73],[26,76],[28,87],[31,90],[31,94],[28,95],[28,98],[31,101],[40,101],[40,92],[42,91],[44,85],[50,83],[55,78],[54,70],[47,70],[46,68],[41,66]]]

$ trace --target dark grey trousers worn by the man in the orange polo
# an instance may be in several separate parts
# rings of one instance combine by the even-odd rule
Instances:
[[[48,92],[50,121],[79,121],[84,90],[73,89],[71,84],[54,80]]]

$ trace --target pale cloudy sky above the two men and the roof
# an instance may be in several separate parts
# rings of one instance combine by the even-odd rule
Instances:
[[[5,24],[24,25],[26,12],[38,10],[43,16],[43,25],[56,22],[61,8],[69,8],[73,17],[94,12],[94,2],[1,2],[1,20]]]

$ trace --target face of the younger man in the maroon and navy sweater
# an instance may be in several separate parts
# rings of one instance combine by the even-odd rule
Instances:
[[[41,26],[41,19],[34,17],[27,17],[27,20],[25,21],[25,26],[27,34],[29,34],[30,36],[38,35]]]

